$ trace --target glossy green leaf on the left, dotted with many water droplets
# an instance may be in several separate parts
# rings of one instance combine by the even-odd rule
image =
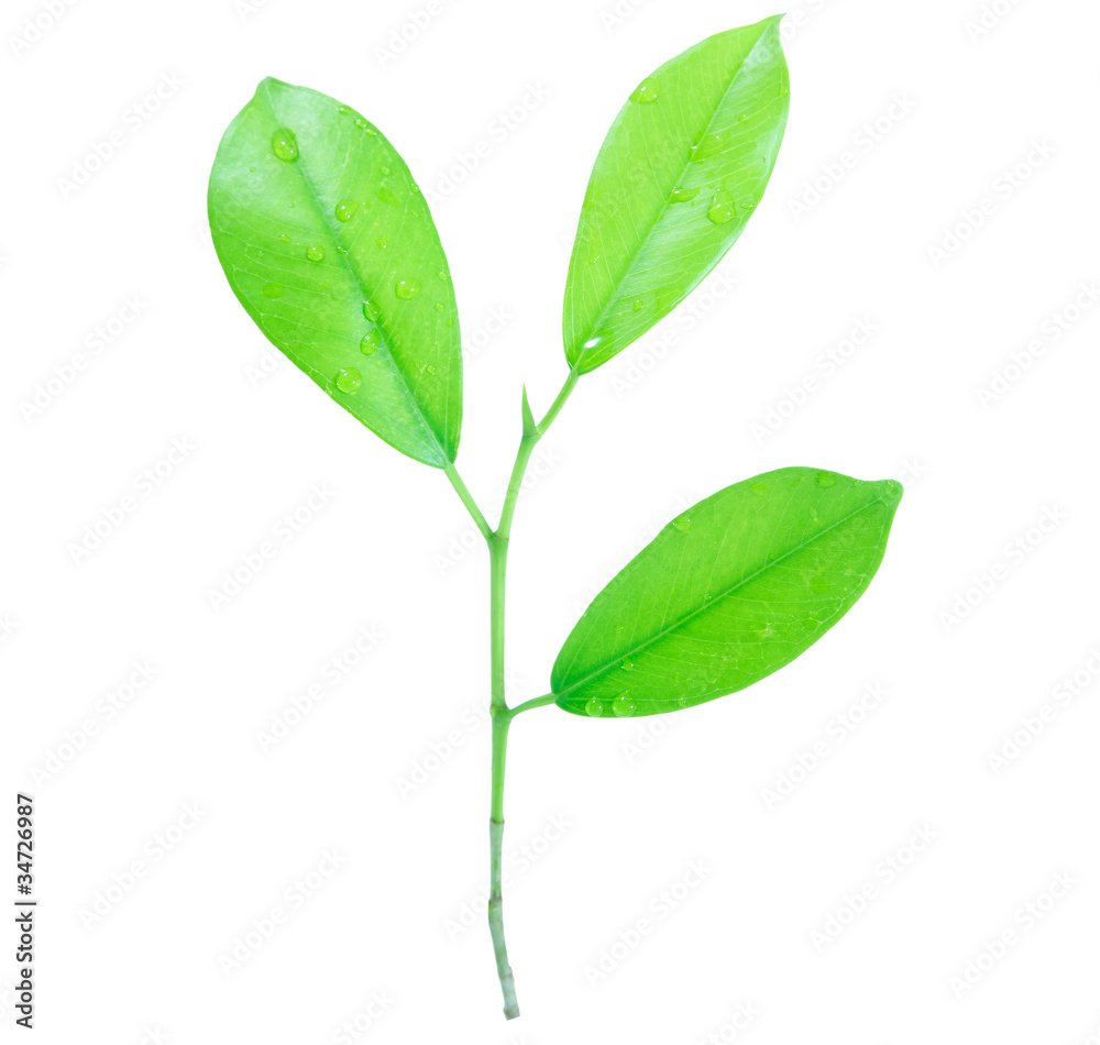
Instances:
[[[391,446],[451,463],[454,290],[428,205],[378,130],[267,78],[221,140],[209,211],[230,286],[272,343]]]

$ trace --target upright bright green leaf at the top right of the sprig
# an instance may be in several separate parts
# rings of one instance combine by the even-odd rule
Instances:
[[[690,47],[615,118],[565,282],[565,359],[582,374],[668,315],[733,246],[787,127],[782,15]]]

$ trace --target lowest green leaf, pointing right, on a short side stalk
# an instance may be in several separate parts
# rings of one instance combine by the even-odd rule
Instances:
[[[901,494],[893,480],[792,468],[701,501],[584,612],[553,666],[556,703],[658,715],[790,663],[870,583]]]

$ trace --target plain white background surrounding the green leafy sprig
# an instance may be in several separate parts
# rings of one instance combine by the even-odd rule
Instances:
[[[470,349],[459,466],[495,519],[520,383],[541,413],[565,375],[569,242],[607,125],[667,58],[773,13],[613,4],[439,0],[419,28],[426,0],[6,6],[0,818],[13,850],[14,793],[36,796],[40,1041],[301,1045],[355,1040],[334,1035],[356,1016],[378,1043],[1097,1041],[1086,0],[997,0],[977,31],[980,0],[790,6],[791,120],[763,204],[694,305],[586,377],[543,443],[514,532],[512,698],[546,691],[587,600],[713,491],[802,464],[906,494],[869,591],[796,663],[673,719],[517,721],[524,1016],[501,1015],[481,915],[485,553],[440,473],[267,346],[215,257],[206,180],[265,75],[378,123],[438,197]],[[872,337],[827,372],[858,322]],[[174,440],[193,449],[164,463]],[[315,484],[331,496],[279,542]],[[273,539],[216,612],[223,574]],[[362,628],[375,645],[331,685]],[[135,662],[152,679],[120,691]],[[264,750],[314,684],[322,698]],[[888,695],[850,713],[867,685]],[[1038,736],[991,763],[1044,705]],[[326,853],[340,866],[307,880]],[[1058,875],[1072,886],[1052,899]]]

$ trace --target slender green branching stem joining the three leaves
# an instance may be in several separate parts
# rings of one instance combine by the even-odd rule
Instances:
[[[512,470],[512,479],[508,481],[508,491],[504,496],[504,506],[501,509],[501,522],[496,530],[490,530],[484,522],[484,516],[477,512],[474,521],[485,536],[488,543],[488,569],[490,569],[490,650],[491,650],[491,696],[490,714],[493,719],[493,783],[492,801],[490,803],[490,897],[488,897],[488,930],[493,937],[493,950],[496,954],[496,971],[501,978],[501,990],[504,992],[504,1015],[508,1020],[515,1020],[519,1015],[519,1004],[516,1001],[516,980],[512,972],[512,965],[508,961],[508,945],[504,938],[504,897],[501,888],[501,866],[503,862],[504,849],[504,763],[508,750],[508,726],[512,719],[520,711],[536,707],[539,704],[548,704],[553,700],[552,694],[546,697],[536,697],[526,704],[520,704],[516,708],[509,708],[504,692],[504,622],[505,622],[505,586],[508,570],[508,540],[512,536],[512,519],[516,514],[516,503],[519,501],[519,490],[527,472],[527,464],[531,459],[531,452],[536,444],[546,433],[553,422],[553,419],[561,411],[569,398],[570,393],[576,387],[580,373],[575,369],[570,371],[565,384],[553,400],[546,416],[535,426],[534,429],[526,430],[519,441],[519,450],[516,453],[516,463]],[[458,472],[453,465],[448,469],[448,479],[459,492],[463,503],[474,515],[477,506],[473,498],[462,485]],[[479,521],[481,517],[481,521]]]

